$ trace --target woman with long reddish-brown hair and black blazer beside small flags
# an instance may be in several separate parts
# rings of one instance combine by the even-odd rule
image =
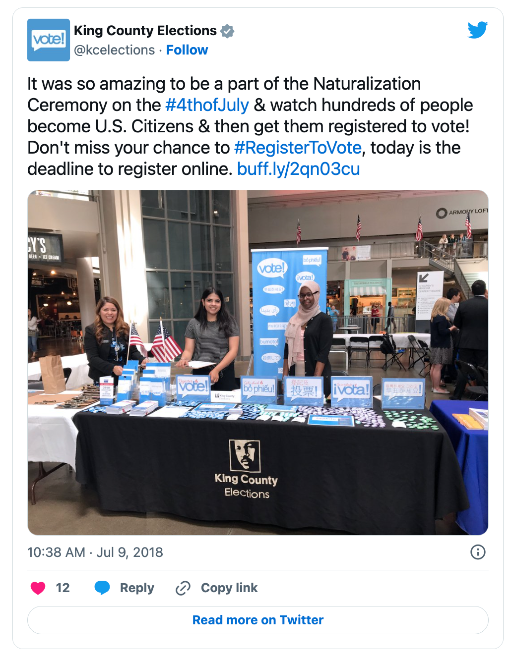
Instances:
[[[104,296],[96,305],[94,323],[85,329],[84,347],[89,360],[89,378],[96,383],[102,376],[114,376],[117,385],[123,365],[129,360],[146,364],[137,347],[128,347],[129,327],[115,298]],[[128,350],[129,348],[129,350]]]

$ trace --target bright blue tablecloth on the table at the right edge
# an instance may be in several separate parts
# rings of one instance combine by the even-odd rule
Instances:
[[[469,430],[453,413],[468,414],[470,408],[488,409],[488,401],[432,401],[430,412],[445,428],[457,454],[470,508],[458,512],[457,524],[468,534],[483,534],[488,527],[489,459],[488,431]]]

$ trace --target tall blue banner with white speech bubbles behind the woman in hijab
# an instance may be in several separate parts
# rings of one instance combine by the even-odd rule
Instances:
[[[254,376],[282,378],[285,329],[299,306],[301,284],[320,286],[326,311],[328,248],[252,250]]]

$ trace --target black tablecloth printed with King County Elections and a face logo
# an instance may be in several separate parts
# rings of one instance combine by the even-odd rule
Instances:
[[[96,488],[105,510],[433,534],[436,518],[468,507],[457,457],[441,430],[87,412],[73,421],[77,480]],[[237,461],[233,440],[259,441],[250,467]]]

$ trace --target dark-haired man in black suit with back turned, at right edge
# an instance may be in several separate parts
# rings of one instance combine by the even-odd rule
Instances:
[[[454,325],[458,327],[458,359],[470,362],[474,366],[488,367],[489,350],[489,301],[487,300],[486,282],[476,280],[471,285],[474,298],[464,300],[458,306]],[[457,385],[450,399],[462,399],[466,388],[466,376],[459,370]]]

